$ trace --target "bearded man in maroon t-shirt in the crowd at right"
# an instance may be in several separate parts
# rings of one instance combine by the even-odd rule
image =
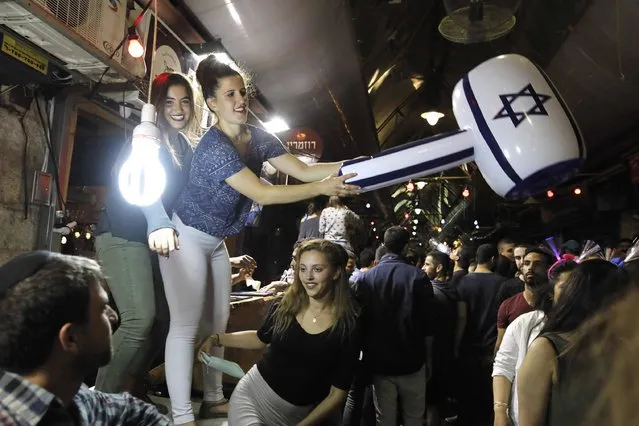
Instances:
[[[544,277],[550,267],[550,256],[538,248],[528,249],[524,255],[521,272],[524,278],[524,291],[506,299],[497,312],[497,342],[495,353],[504,338],[506,327],[518,316],[531,312],[535,304],[536,285],[539,277]]]

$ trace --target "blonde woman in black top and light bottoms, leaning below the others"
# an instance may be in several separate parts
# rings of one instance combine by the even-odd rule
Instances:
[[[338,413],[359,353],[347,256],[325,240],[302,244],[296,275],[259,330],[213,335],[213,345],[266,354],[231,396],[230,426],[316,425]]]

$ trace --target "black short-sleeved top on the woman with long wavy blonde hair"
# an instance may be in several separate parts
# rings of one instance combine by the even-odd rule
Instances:
[[[268,385],[280,397],[297,406],[321,402],[331,386],[347,391],[360,344],[359,333],[353,330],[343,339],[339,332],[326,330],[308,334],[293,320],[283,335],[273,336],[274,303],[257,332],[259,339],[269,344],[257,368]]]

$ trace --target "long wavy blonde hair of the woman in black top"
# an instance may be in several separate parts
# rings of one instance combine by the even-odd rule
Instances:
[[[295,321],[296,315],[309,305],[308,294],[304,290],[299,276],[300,258],[303,253],[308,251],[318,251],[324,254],[329,266],[335,271],[340,271],[338,278],[333,280],[333,285],[330,289],[329,303],[333,306],[335,315],[331,333],[338,332],[345,339],[355,328],[358,314],[357,305],[344,271],[348,255],[341,246],[319,239],[304,242],[297,251],[293,284],[286,291],[273,314],[273,335],[282,336]]]

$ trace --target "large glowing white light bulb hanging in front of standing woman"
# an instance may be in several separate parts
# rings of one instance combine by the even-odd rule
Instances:
[[[142,120],[133,129],[131,155],[122,165],[118,181],[126,201],[148,206],[157,201],[166,186],[166,173],[160,163],[160,129],[155,125],[155,106],[144,104]]]

